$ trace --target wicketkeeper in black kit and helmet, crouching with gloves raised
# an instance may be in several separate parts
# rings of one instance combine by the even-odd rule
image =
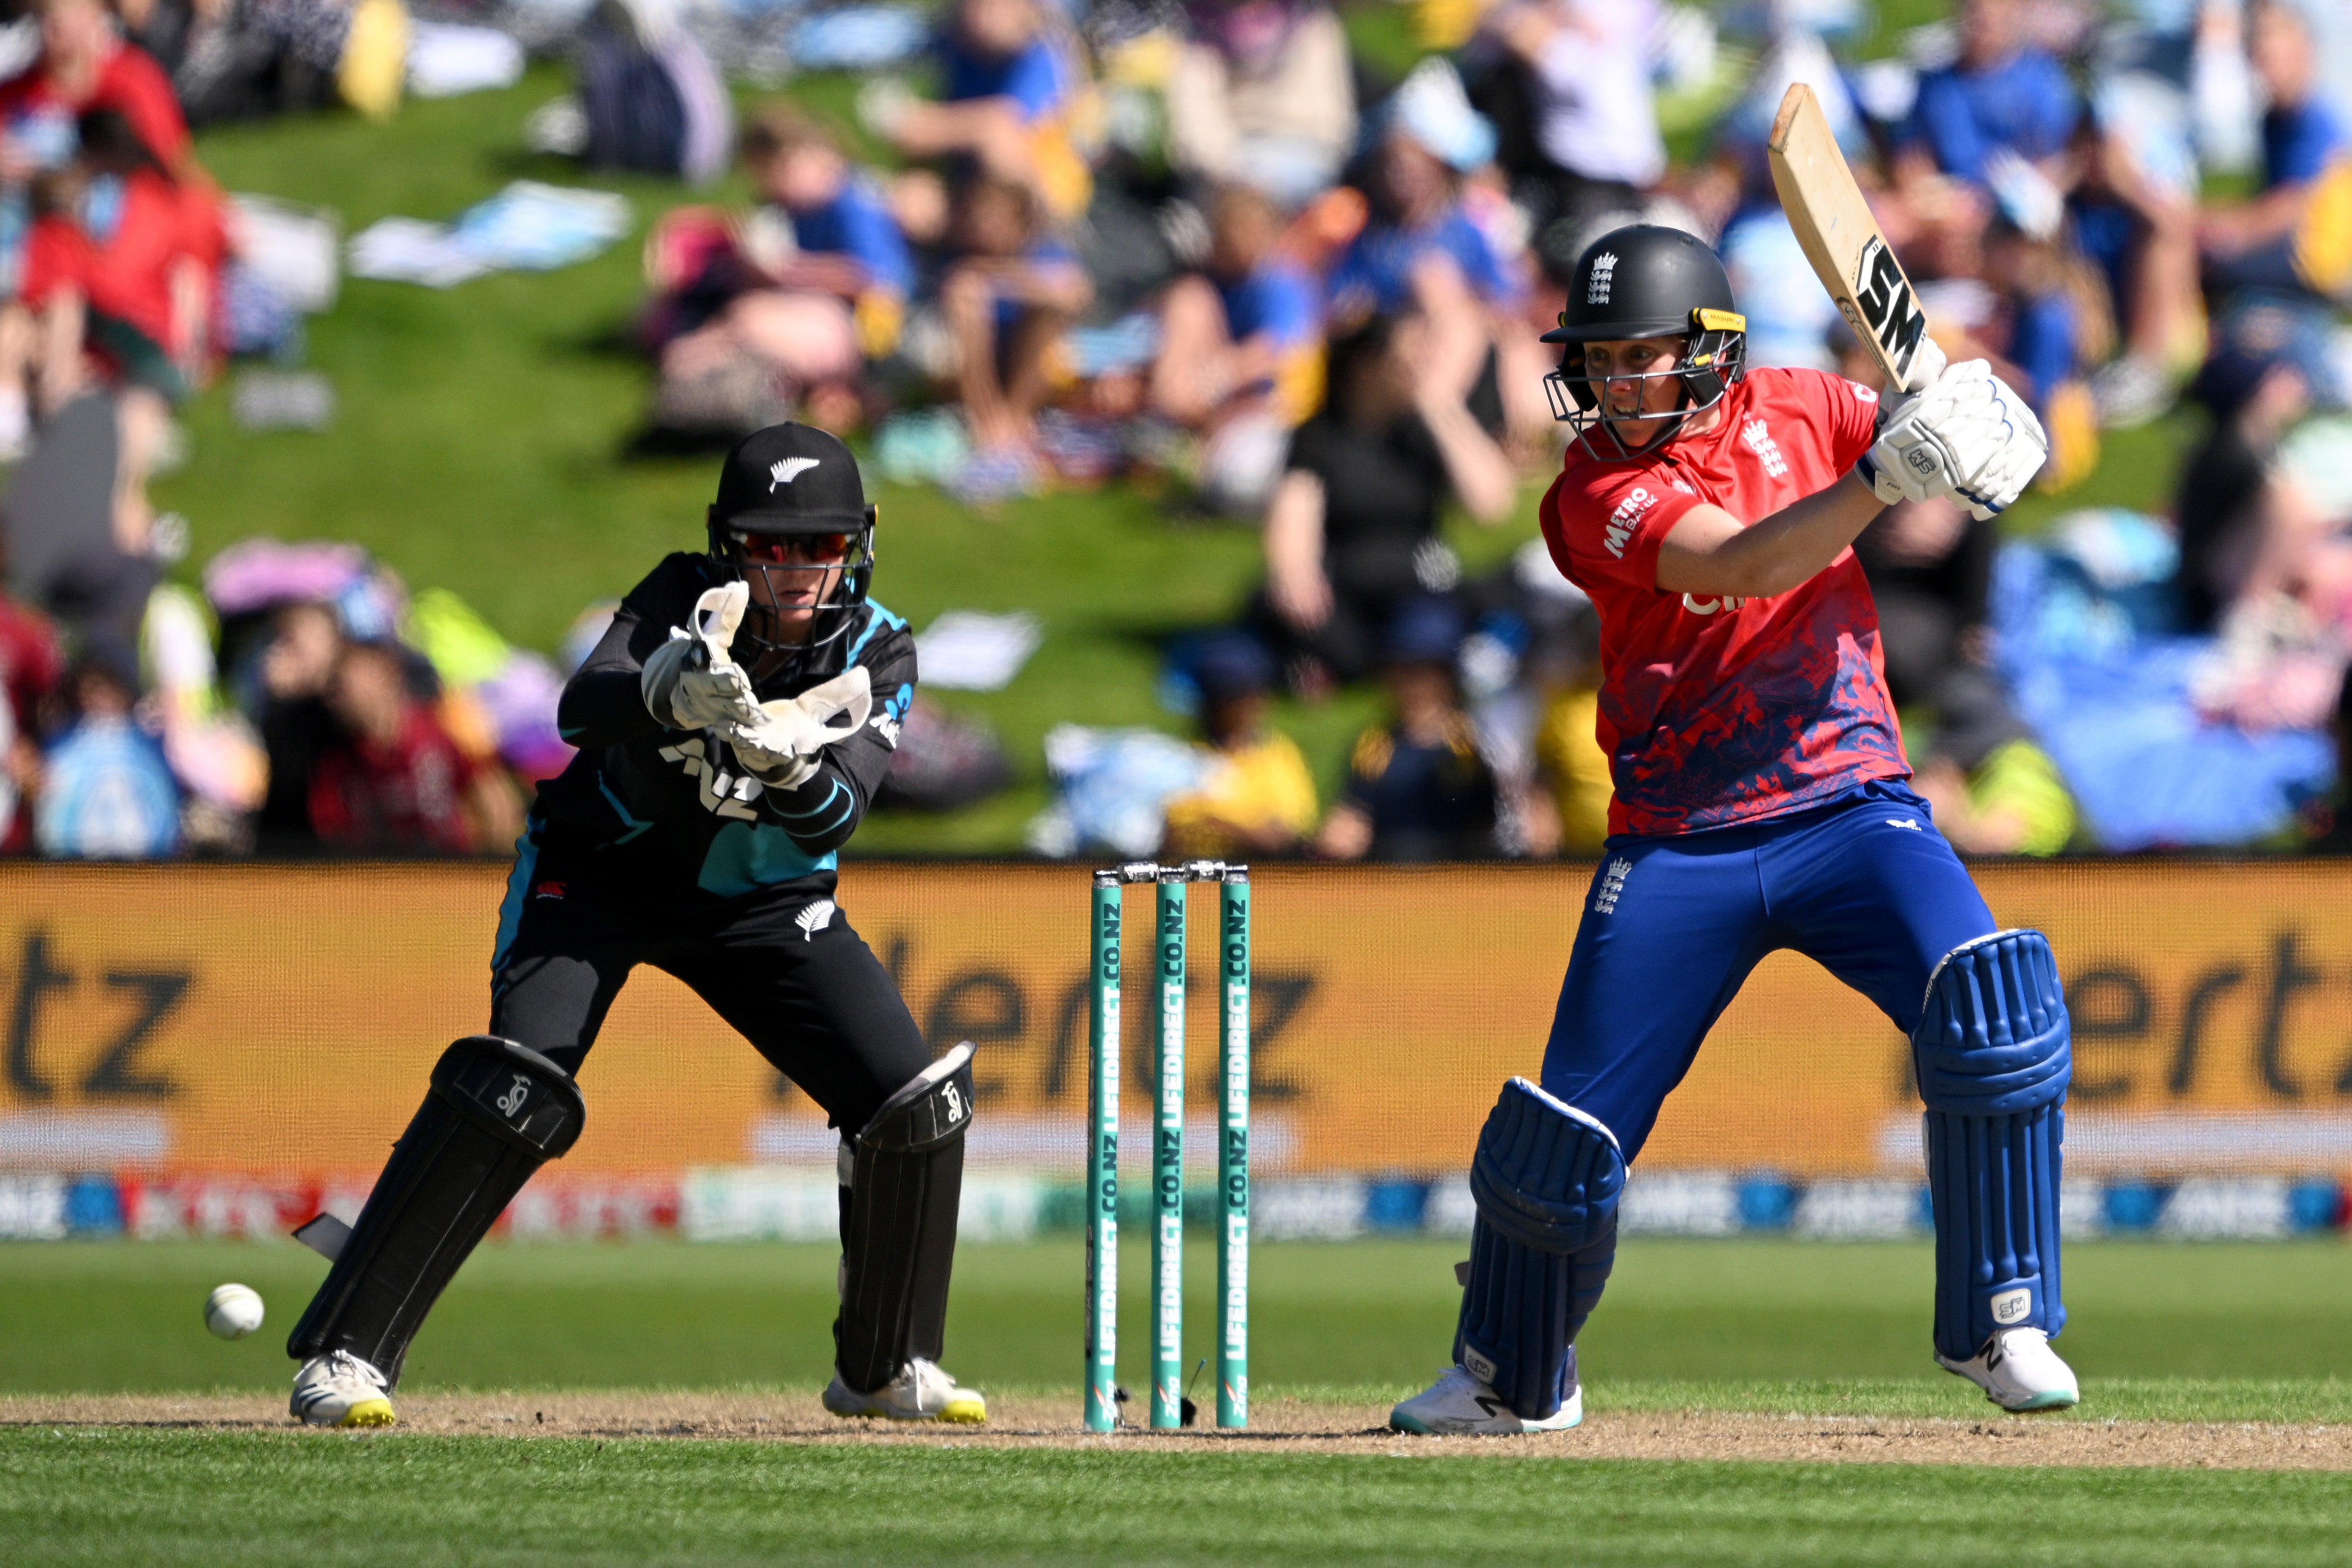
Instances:
[[[823,430],[720,473],[708,555],[621,602],[557,724],[579,750],[524,825],[489,1032],[456,1041],[287,1340],[294,1415],[383,1427],[442,1286],[581,1133],[576,1077],[637,964],[701,994],[842,1131],[835,1415],[981,1422],[938,1368],[971,1046],[936,1063],[833,903],[835,853],[915,696],[906,621],[866,597],[875,508]]]

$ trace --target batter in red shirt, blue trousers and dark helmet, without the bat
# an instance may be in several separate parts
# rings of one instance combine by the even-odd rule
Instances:
[[[2049,442],[1983,360],[1882,407],[1811,369],[1745,369],[1705,244],[1621,228],[1576,263],[1543,498],[1552,559],[1602,618],[1611,837],[1543,1081],[1510,1079],[1470,1168],[1456,1366],[1404,1432],[1583,1418],[1576,1331],[1616,1253],[1625,1166],[1748,971],[1795,947],[1912,1039],[1936,1208],[1936,1361],[2006,1410],[2077,1401],[2049,1347],[2070,1048],[2039,931],[2002,931],[1924,799],[1853,536],[1896,501],[2009,505]],[[1773,1117],[1769,1103],[1757,1117]]]

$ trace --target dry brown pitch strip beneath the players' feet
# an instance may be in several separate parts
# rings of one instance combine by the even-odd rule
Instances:
[[[988,1448],[1150,1448],[1221,1453],[1390,1453],[1576,1460],[1783,1460],[1875,1465],[2145,1465],[2187,1469],[2352,1469],[2352,1427],[2098,1422],[1985,1415],[1621,1413],[1573,1432],[1430,1439],[1383,1427],[1383,1406],[1261,1399],[1249,1432],[1082,1432],[1075,1399],[997,1399],[988,1427],[842,1422],[809,1394],[419,1394],[407,1432],[477,1436],[743,1439],[781,1443],[948,1443]],[[0,1396],[0,1427],[285,1432],[285,1403],[252,1394]]]

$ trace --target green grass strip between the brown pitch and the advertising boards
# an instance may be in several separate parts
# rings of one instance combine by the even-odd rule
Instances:
[[[1397,1399],[1446,1361],[1456,1241],[1263,1244],[1251,1258],[1261,1394]],[[278,1389],[285,1333],[325,1262],[294,1246],[0,1246],[0,1394]],[[407,1387],[696,1389],[826,1382],[828,1246],[489,1246],[409,1354]],[[1148,1260],[1124,1248],[1122,1378],[1141,1387]],[[1578,1342],[1592,1408],[1985,1410],[1929,1361],[1922,1244],[1628,1241]],[[1209,1354],[1216,1265],[1188,1255],[1190,1359]],[[1080,1380],[1080,1244],[967,1246],[948,1366],[981,1389]],[[202,1300],[242,1281],[263,1331],[219,1342]],[[2352,1420],[2352,1248],[2067,1248],[2065,1352],[2082,1418]]]

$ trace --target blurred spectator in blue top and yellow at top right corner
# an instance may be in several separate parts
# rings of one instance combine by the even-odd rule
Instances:
[[[2263,190],[2197,223],[2206,289],[2340,301],[2352,289],[2352,129],[2319,92],[2312,26],[2288,0],[2260,0],[2246,52],[2270,92]]]

